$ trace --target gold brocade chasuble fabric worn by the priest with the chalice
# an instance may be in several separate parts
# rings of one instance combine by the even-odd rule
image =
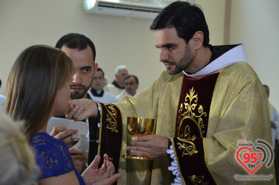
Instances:
[[[251,184],[251,181],[235,179],[234,174],[247,174],[247,171],[239,165],[235,154],[239,148],[239,140],[261,139],[271,143],[268,99],[260,80],[248,64],[238,62],[217,73],[213,93],[208,95],[211,104],[207,115],[206,137],[195,135],[194,138],[190,135],[189,139],[200,140],[196,142],[199,151],[191,156],[203,154],[202,158],[196,158],[194,161],[195,168],[208,171],[216,184]],[[168,75],[167,71],[164,71],[149,88],[135,97],[126,96],[122,103],[115,104],[121,111],[123,120],[122,155],[127,153],[126,147],[132,138],[126,133],[127,116],[155,119],[153,134],[171,137],[175,148],[179,140],[176,135],[176,121],[183,78],[183,73]],[[186,90],[188,94],[190,90],[192,88]],[[181,139],[179,142],[183,145]],[[189,155],[177,156],[176,153],[176,159],[180,167],[184,166],[179,168],[184,184],[185,179],[187,182],[192,180],[193,184],[212,182],[199,175],[187,174],[194,168],[187,166]],[[121,178],[118,184],[169,184],[169,165],[167,157],[152,161],[121,158],[119,169]],[[189,170],[185,172],[183,170],[185,168]],[[273,163],[269,168],[264,166],[259,168],[255,175],[259,174],[271,174],[275,177]],[[253,181],[253,184],[262,183]],[[274,184],[275,179],[264,183]]]

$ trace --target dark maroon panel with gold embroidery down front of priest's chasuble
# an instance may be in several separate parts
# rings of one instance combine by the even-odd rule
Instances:
[[[208,115],[219,73],[199,78],[184,75],[176,116],[175,137],[172,147],[186,184],[197,178],[215,184],[204,159],[203,138],[206,137]],[[198,165],[197,165],[198,161]],[[185,176],[184,176],[185,175]]]

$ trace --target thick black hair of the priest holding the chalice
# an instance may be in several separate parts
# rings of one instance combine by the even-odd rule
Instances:
[[[175,1],[155,17],[150,25],[150,30],[175,28],[177,36],[183,38],[186,44],[197,31],[203,32],[203,46],[209,44],[209,30],[203,11],[197,5],[187,1]]]

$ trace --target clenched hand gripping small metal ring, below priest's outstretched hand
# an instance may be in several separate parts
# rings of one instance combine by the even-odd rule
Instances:
[[[70,128],[68,129],[65,126],[55,126],[53,127],[49,135],[53,136],[56,139],[62,140],[68,148],[76,145],[78,141],[73,141],[71,138],[76,139],[78,137],[78,129]]]

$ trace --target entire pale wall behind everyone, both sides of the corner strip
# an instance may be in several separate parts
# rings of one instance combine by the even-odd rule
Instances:
[[[87,14],[82,0],[0,0],[0,94],[5,94],[8,75],[18,54],[34,44],[54,46],[69,32],[84,34],[96,45],[96,62],[109,78],[116,66],[126,64],[140,80],[139,91],[148,87],[164,65],[149,31],[151,20]],[[205,13],[210,43],[224,40],[225,2],[196,0]],[[243,43],[246,57],[262,83],[270,87],[270,102],[279,109],[279,1],[233,0],[230,44]],[[139,92],[138,91],[138,92]]]

